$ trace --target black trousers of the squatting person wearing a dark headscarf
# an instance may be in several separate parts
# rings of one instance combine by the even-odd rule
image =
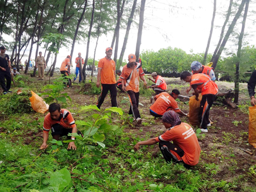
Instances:
[[[178,160],[177,157],[171,153],[171,151],[175,151],[179,155],[179,157],[183,157],[184,151],[178,145],[174,145],[169,141],[161,141],[159,142],[159,149],[161,150],[163,157],[165,158],[166,163],[183,163],[186,168],[190,168],[190,165],[187,165],[182,160]]]

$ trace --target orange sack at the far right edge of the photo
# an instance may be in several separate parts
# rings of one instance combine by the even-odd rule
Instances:
[[[249,107],[249,143],[256,148],[256,106]]]

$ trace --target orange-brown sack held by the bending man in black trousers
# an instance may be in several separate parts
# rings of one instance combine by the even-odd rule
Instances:
[[[200,102],[202,100],[202,95],[199,94],[198,101],[195,100],[195,95],[189,98],[189,122],[192,126],[200,126],[198,121],[198,113],[200,110]]]

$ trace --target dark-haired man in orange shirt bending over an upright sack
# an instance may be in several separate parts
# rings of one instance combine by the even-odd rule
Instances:
[[[195,91],[195,99],[197,101],[199,93],[202,94],[198,119],[201,130],[207,133],[207,125],[210,124],[210,108],[213,105],[215,95],[218,93],[218,86],[215,82],[211,81],[209,75],[202,73],[192,75],[189,71],[183,71],[181,79],[190,82],[191,87]]]

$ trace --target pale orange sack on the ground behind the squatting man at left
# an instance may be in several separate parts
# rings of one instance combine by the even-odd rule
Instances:
[[[49,105],[43,101],[42,97],[31,91],[32,97],[29,98],[31,107],[35,112],[45,113],[49,109]]]

